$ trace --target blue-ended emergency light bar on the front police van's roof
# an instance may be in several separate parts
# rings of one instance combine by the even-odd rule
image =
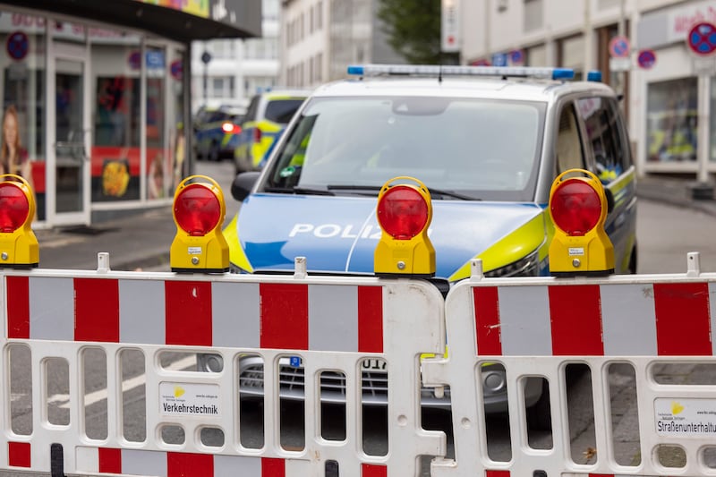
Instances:
[[[573,80],[571,68],[539,68],[533,66],[456,66],[440,64],[353,64],[348,74],[356,76],[503,76],[541,80]]]

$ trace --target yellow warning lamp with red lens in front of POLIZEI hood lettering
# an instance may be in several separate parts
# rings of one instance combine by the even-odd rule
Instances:
[[[373,256],[379,277],[434,277],[435,248],[428,237],[432,219],[430,192],[413,177],[383,184],[376,217],[382,234]]]

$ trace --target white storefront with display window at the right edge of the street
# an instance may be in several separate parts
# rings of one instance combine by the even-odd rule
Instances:
[[[637,157],[644,173],[686,174],[702,183],[716,173],[710,114],[716,112],[716,55],[695,55],[686,38],[703,21],[716,23],[716,1],[678,4],[638,21],[638,47],[657,58],[651,69],[639,70],[635,86],[642,99],[632,102],[642,115]]]

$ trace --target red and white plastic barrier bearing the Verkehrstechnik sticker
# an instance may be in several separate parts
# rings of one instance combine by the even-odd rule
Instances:
[[[443,300],[422,281],[372,277],[183,276],[170,273],[42,270],[0,272],[2,345],[31,353],[32,430],[13,431],[7,352],[0,358],[4,394],[0,470],[50,472],[50,447],[63,448],[64,473],[226,476],[322,475],[336,461],[340,475],[381,477],[417,472],[421,455],[444,455],[446,438],[420,423],[420,355],[445,349]],[[83,401],[82,352],[107,356],[107,438],[90,439]],[[124,438],[120,354],[144,355],[146,439]],[[164,352],[218,353],[223,372],[162,368]],[[264,435],[243,447],[238,363],[247,353],[264,362]],[[305,375],[305,445],[282,447],[278,361],[299,356]],[[362,446],[362,360],[388,363],[388,456]],[[48,360],[68,363],[69,423],[48,422]],[[345,375],[346,436],[320,436],[318,382],[322,371]],[[176,393],[176,389],[180,389]],[[210,389],[207,412],[162,412],[161,405],[192,389]],[[175,393],[174,396],[172,393]],[[196,393],[194,393],[196,394]],[[197,395],[198,396],[198,395]],[[171,403],[169,403],[169,401]],[[177,398],[178,399],[178,398]],[[192,403],[189,403],[191,405]],[[181,407],[181,406],[180,406]],[[173,408],[174,409],[174,408]],[[206,410],[205,409],[205,410]],[[180,427],[181,445],[161,438]],[[224,444],[208,447],[200,431],[216,428]],[[246,470],[246,473],[239,470]]]

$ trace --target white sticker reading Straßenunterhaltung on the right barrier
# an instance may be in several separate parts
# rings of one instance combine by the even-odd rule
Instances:
[[[716,399],[659,398],[654,413],[660,436],[716,437]]]

